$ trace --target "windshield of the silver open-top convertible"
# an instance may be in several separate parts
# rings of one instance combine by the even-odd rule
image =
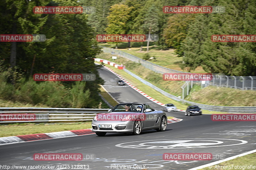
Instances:
[[[119,104],[111,109],[110,112],[141,112],[142,105],[140,104]]]

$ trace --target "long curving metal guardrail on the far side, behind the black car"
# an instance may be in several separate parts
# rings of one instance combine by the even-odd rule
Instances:
[[[155,85],[149,83],[148,81],[144,80],[143,78],[140,78],[136,74],[132,73],[131,71],[124,69],[125,72],[130,74],[132,77],[140,80],[143,84],[148,85],[149,87],[155,89],[156,91],[162,93],[166,97],[169,97],[173,100],[176,101],[181,101],[183,103],[188,103],[190,105],[196,105],[199,106],[200,108],[208,111],[218,111],[218,112],[227,112],[227,113],[256,113],[256,107],[234,107],[234,106],[213,106],[213,105],[204,105],[200,103],[195,103],[187,100],[183,100],[177,96],[174,96],[170,93],[165,92],[164,90],[156,87]]]

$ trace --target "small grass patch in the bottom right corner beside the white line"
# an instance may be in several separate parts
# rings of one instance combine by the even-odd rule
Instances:
[[[256,160],[256,153],[251,153],[242,157],[238,157],[236,159],[228,160],[226,162],[222,162],[217,165],[213,165],[212,168],[205,167],[199,170],[234,170],[234,169],[243,169],[243,170],[255,170],[255,160]],[[233,166],[242,166],[241,168],[235,168]],[[245,166],[254,166],[254,168],[246,167]],[[224,167],[225,166],[225,167]],[[243,168],[244,166],[244,168]]]

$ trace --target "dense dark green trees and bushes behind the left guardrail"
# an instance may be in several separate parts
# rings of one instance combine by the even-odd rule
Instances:
[[[98,67],[95,66],[93,57],[100,53],[100,48],[97,41],[95,41],[94,29],[88,24],[88,14],[33,13],[34,6],[80,6],[80,4],[73,0],[6,0],[2,2],[0,3],[1,34],[45,34],[46,41],[1,42],[0,57],[1,62],[3,61],[1,67],[5,69],[9,67],[17,68],[23,72],[23,77],[28,81],[24,80],[23,84],[27,85],[29,83],[27,87],[25,86],[26,88],[38,87],[37,90],[40,92],[39,87],[45,87],[44,89],[48,89],[55,97],[58,95],[54,94],[54,91],[56,91],[54,87],[71,88],[69,94],[77,93],[77,97],[80,95],[79,100],[83,103],[83,105],[78,104],[79,101],[77,104],[61,104],[61,102],[68,103],[68,100],[71,99],[70,96],[66,98],[67,100],[61,101],[56,107],[97,106],[101,101],[98,92],[99,85],[103,84],[103,80],[99,77]],[[56,86],[58,83],[54,84],[52,82],[32,83],[30,78],[34,73],[94,73],[96,80],[86,83],[61,82],[63,87],[59,87]],[[11,80],[13,79],[12,76],[7,76],[7,78],[9,83],[17,83],[15,80]],[[40,84],[40,86],[37,86],[37,84]],[[49,86],[52,86],[52,89]],[[83,94],[75,87],[82,89]],[[42,91],[46,93],[44,89]],[[22,89],[20,90],[22,91]],[[27,89],[24,92],[30,92],[33,96],[32,89]],[[13,95],[16,94],[13,93]],[[34,96],[40,97],[36,94]],[[59,95],[60,99],[62,97],[63,95]],[[84,99],[82,100],[82,98]],[[33,99],[31,98],[31,100]],[[74,97],[72,100],[75,100]],[[87,102],[84,102],[84,100]]]

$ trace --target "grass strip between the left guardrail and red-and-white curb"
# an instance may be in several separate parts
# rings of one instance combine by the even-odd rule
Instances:
[[[59,132],[65,130],[89,129],[91,121],[74,124],[35,124],[35,123],[15,123],[9,125],[0,125],[0,137],[30,135],[37,133]]]

